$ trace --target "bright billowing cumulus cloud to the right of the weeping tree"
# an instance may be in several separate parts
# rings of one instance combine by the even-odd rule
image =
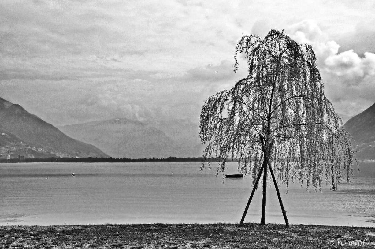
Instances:
[[[288,28],[288,34],[299,43],[312,45],[326,95],[336,112],[356,115],[374,104],[374,53],[364,52],[361,57],[353,49],[339,52],[340,45],[328,40],[328,35],[312,20],[293,24]]]

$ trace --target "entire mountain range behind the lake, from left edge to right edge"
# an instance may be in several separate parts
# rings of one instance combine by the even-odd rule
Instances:
[[[360,160],[375,160],[375,104],[351,117],[344,129]],[[189,120],[114,118],[54,127],[0,98],[0,158],[202,156],[199,126]]]

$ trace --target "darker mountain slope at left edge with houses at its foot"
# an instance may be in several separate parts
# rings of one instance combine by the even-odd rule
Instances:
[[[0,98],[0,157],[107,157],[93,145],[66,136],[23,107]]]

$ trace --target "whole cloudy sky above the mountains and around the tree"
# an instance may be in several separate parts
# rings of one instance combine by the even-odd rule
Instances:
[[[341,117],[375,102],[375,2],[0,0],[0,97],[56,126],[199,121],[246,77],[236,44],[272,30],[312,45]]]

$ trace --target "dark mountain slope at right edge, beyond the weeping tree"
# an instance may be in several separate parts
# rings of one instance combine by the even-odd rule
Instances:
[[[356,153],[356,157],[360,160],[374,160],[375,104],[350,118],[343,127],[354,139],[354,150],[360,150]]]

